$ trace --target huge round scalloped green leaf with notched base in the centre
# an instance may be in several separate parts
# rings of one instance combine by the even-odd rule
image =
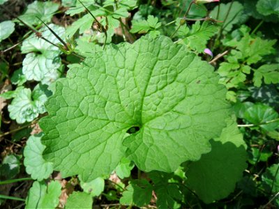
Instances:
[[[161,36],[109,45],[70,65],[40,121],[44,158],[93,180],[126,155],[142,171],[175,171],[211,150],[229,105],[213,67]]]

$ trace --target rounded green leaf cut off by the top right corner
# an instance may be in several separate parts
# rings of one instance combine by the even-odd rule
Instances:
[[[259,0],[257,1],[257,11],[264,15],[278,15],[279,17],[279,1],[277,0]]]

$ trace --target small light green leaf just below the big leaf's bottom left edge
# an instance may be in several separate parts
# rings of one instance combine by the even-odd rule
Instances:
[[[105,180],[99,177],[90,182],[84,182],[80,179],[80,186],[84,192],[89,193],[91,196],[99,196],[105,189]]]

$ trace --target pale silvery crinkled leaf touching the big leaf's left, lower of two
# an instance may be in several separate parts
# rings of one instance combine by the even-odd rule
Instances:
[[[43,114],[47,100],[45,91],[45,86],[39,84],[34,88],[33,93],[30,88],[20,88],[16,91],[15,98],[8,106],[10,118],[17,123],[24,123],[33,121],[39,114]]]

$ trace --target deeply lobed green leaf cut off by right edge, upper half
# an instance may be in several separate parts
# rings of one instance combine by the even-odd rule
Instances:
[[[264,84],[278,84],[279,64],[262,65],[255,70],[254,77],[252,79],[254,86],[261,86],[262,78],[264,78]]]

